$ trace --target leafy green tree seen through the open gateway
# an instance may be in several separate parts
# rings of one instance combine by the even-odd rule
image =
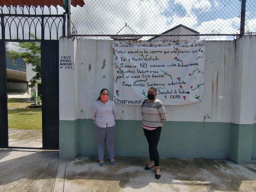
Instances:
[[[35,39],[34,34],[30,34],[30,37]],[[22,52],[6,50],[6,56],[12,59],[23,58],[26,64],[33,66],[32,71],[36,72],[35,76],[30,79],[29,87],[34,87],[36,81],[41,81],[41,44],[40,42],[19,42],[17,47]]]

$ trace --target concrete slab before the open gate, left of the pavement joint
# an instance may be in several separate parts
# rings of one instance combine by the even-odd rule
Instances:
[[[58,152],[0,149],[0,191],[51,191]]]

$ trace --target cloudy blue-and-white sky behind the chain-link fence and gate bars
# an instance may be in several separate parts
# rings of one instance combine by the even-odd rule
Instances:
[[[3,10],[6,11],[7,8],[4,7]],[[59,14],[64,12],[62,7],[58,7],[58,10]],[[37,8],[37,14],[40,14],[40,11],[41,9]],[[53,7],[51,12],[57,13]],[[236,34],[240,28],[240,12],[239,0],[90,0],[85,1],[84,7],[72,7],[72,23],[78,34],[117,34],[125,23],[138,34],[160,34],[179,24],[201,34]],[[44,8],[44,14],[49,14],[49,9]],[[246,15],[246,31],[256,32],[255,0],[247,0]],[[48,20],[45,28],[46,38],[49,38],[51,24],[52,21]],[[31,33],[35,34],[32,28]],[[11,31],[15,38],[17,34],[14,22]],[[28,24],[25,24],[25,37],[28,32]],[[57,39],[56,27],[52,28],[52,33],[53,38]],[[131,33],[129,28],[125,27],[119,34]],[[19,33],[19,37],[21,35]],[[41,37],[41,28],[37,29],[37,36]],[[226,36],[203,38],[233,40],[233,37]],[[8,47],[11,50],[19,50],[12,43],[9,43]]]

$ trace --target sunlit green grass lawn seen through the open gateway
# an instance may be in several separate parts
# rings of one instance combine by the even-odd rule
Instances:
[[[8,127],[15,129],[42,129],[42,108],[29,108],[30,99],[10,98]]]

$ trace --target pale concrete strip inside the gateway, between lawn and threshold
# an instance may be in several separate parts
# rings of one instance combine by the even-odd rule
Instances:
[[[42,148],[42,130],[8,129],[9,146]]]

